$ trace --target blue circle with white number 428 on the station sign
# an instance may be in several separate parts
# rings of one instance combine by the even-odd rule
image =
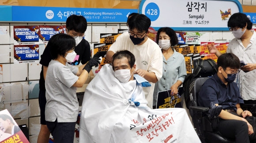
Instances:
[[[160,10],[157,4],[149,3],[145,8],[145,15],[150,18],[151,21],[157,20],[159,17]]]

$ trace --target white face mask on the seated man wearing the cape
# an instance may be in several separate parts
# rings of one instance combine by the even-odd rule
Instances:
[[[115,71],[115,77],[122,83],[127,83],[132,75],[130,69],[120,69]]]

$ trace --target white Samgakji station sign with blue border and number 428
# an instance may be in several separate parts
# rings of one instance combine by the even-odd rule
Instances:
[[[228,31],[227,21],[237,12],[242,12],[238,0],[142,0],[139,5],[156,30]]]

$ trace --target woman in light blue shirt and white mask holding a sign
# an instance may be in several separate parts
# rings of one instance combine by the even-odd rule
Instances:
[[[160,28],[157,33],[157,43],[162,48],[163,75],[154,86],[153,106],[156,106],[160,91],[171,89],[171,96],[176,95],[178,87],[187,75],[184,56],[171,47],[178,44],[176,32],[169,27]]]

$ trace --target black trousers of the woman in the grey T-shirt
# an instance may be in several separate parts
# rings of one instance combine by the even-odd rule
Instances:
[[[74,143],[75,122],[48,122],[46,125],[52,133],[54,143]]]

